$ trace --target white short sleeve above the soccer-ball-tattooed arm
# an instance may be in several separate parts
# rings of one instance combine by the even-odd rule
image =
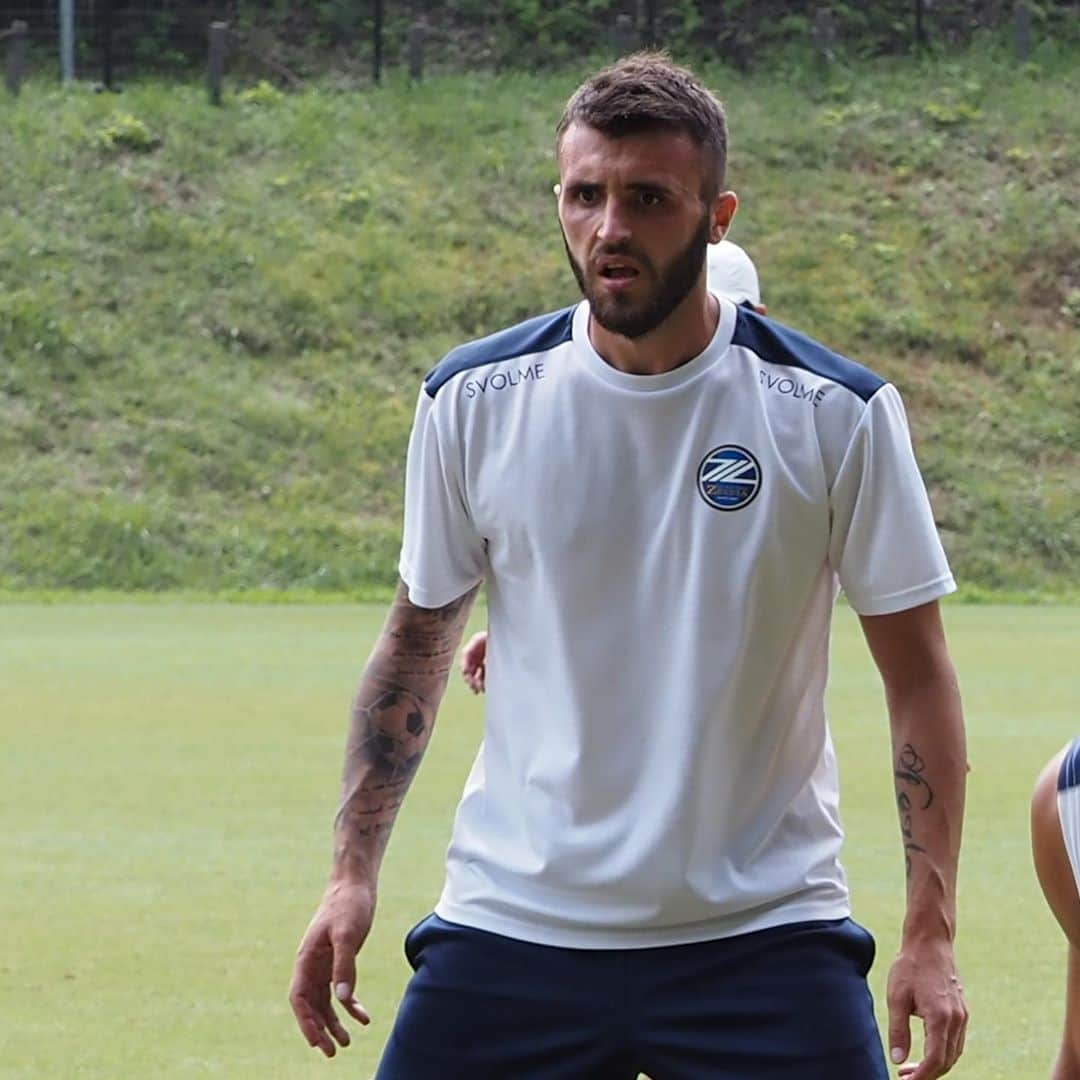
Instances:
[[[420,391],[405,467],[405,528],[399,572],[417,607],[438,608],[484,578],[484,541],[464,496],[461,456]],[[446,418],[443,418],[444,422]]]

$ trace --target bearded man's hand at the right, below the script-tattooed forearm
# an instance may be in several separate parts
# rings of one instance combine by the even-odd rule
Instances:
[[[912,1050],[910,1022],[922,1018],[922,1061],[904,1065],[901,1080],[936,1080],[963,1052],[968,1007],[947,941],[901,947],[889,971],[889,1048],[894,1065]]]

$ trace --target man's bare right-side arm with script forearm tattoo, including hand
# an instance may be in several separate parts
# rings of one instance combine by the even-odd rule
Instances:
[[[960,691],[936,600],[861,620],[885,683],[907,872],[900,953],[889,972],[890,1056],[907,1059],[910,1021],[921,1017],[922,1061],[903,1076],[935,1080],[956,1064],[968,1025],[953,948],[968,770]]]

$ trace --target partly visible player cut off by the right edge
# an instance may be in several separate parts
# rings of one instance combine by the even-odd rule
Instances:
[[[1031,849],[1047,903],[1068,940],[1065,1032],[1051,1080],[1080,1080],[1080,739],[1042,770],[1031,799]]]

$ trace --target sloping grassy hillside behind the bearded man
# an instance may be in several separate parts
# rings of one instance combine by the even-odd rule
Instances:
[[[1077,580],[1078,59],[704,72],[770,314],[900,386],[990,590]],[[391,582],[420,377],[575,299],[584,70],[0,100],[0,588]]]

